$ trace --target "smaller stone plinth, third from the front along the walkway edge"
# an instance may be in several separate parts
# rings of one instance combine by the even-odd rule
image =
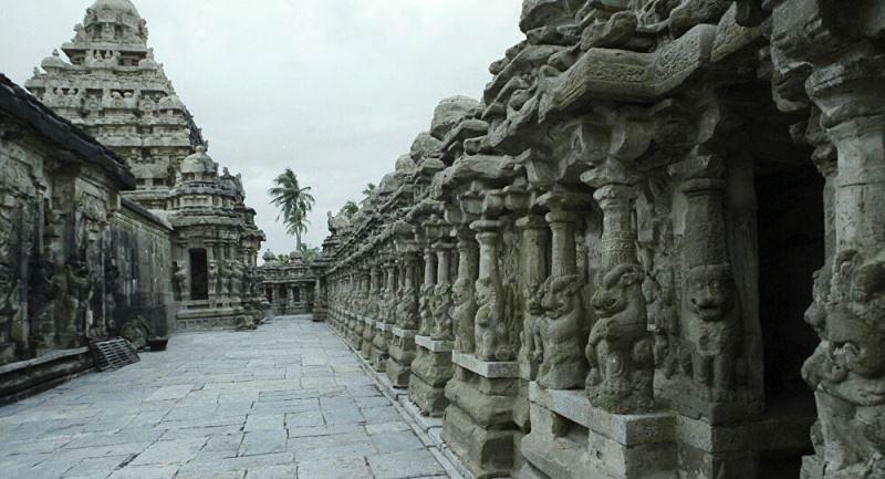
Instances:
[[[448,407],[446,384],[452,376],[451,341],[434,341],[430,336],[415,336],[417,355],[412,362],[408,397],[430,417],[441,417]]]

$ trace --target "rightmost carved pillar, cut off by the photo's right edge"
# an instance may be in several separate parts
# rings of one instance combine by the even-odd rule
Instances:
[[[834,248],[806,312],[821,343],[802,371],[818,402],[818,455],[803,464],[803,473],[815,479],[885,477],[883,29],[874,1],[782,0],[772,12],[775,65],[810,70],[803,72],[805,92],[836,148],[827,181]]]

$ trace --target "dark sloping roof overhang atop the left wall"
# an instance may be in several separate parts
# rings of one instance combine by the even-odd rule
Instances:
[[[114,152],[43,105],[24,88],[0,73],[0,112],[33,128],[60,148],[84,163],[97,166],[119,184],[122,190],[135,189],[135,176]]]

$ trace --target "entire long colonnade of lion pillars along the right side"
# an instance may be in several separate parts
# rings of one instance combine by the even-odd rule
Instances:
[[[330,323],[477,478],[885,477],[872,3],[524,1],[330,214]]]

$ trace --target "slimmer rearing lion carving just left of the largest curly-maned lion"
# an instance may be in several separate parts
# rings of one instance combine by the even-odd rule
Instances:
[[[538,383],[551,389],[580,387],[586,379],[581,303],[583,281],[576,274],[549,279],[544,284],[543,363]]]

